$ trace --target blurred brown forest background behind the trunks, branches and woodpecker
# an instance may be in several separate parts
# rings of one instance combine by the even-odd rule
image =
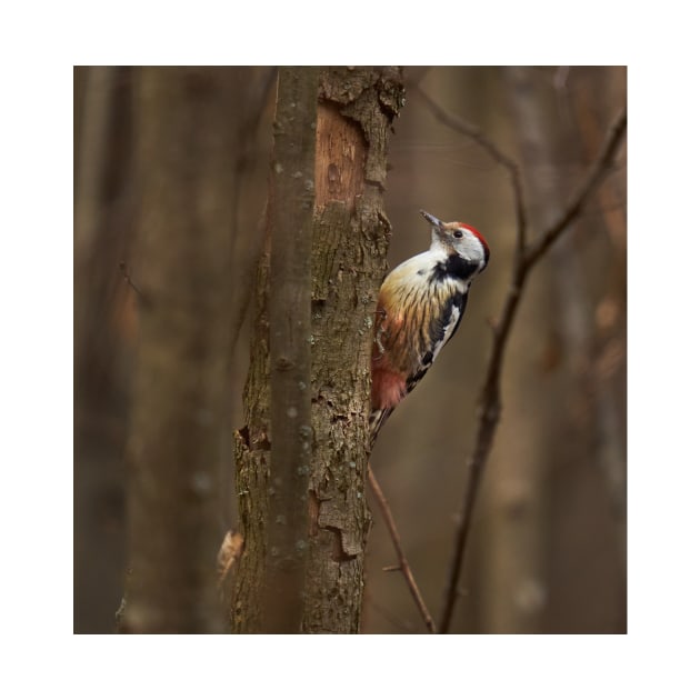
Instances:
[[[114,631],[126,570],[124,446],[138,289],[151,270],[134,219],[137,68],[74,69],[74,631]],[[186,69],[170,69],[186,70]],[[251,269],[260,251],[274,71],[233,71],[248,111],[232,201],[233,348],[230,428],[248,371]],[[240,83],[243,83],[241,88]],[[429,96],[517,161],[530,231],[561,212],[627,101],[624,67],[404,69],[407,103],[389,139],[389,267],[423,251],[419,209],[476,226],[491,248],[460,331],[388,421],[372,467],[391,503],[428,607],[442,604],[476,403],[516,244],[506,171],[440,121]],[[200,99],[197,89],[191,100]],[[192,123],[196,129],[196,122]],[[627,631],[627,171],[613,172],[528,281],[507,349],[501,423],[479,493],[451,631]],[[123,263],[123,264],[122,264]],[[134,289],[136,288],[136,289]],[[219,448],[230,452],[230,430]],[[233,466],[217,498],[220,538],[234,522]],[[363,632],[423,632],[396,554],[374,524],[366,561]]]

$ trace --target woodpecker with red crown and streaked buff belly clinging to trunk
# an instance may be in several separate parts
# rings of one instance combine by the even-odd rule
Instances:
[[[430,248],[394,268],[379,290],[370,447],[459,328],[469,288],[489,263],[489,246],[477,229],[420,213],[430,223]]]

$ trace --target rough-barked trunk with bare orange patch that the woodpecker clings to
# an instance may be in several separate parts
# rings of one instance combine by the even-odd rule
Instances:
[[[388,130],[403,103],[397,69],[327,69],[317,116],[311,256],[311,459],[304,612],[301,631],[358,632],[369,513],[364,498],[371,328],[386,272],[390,226],[383,212]],[[290,176],[292,173],[289,173]],[[269,547],[270,259],[256,292],[247,426],[236,433],[240,529],[237,632],[270,630],[261,582]]]

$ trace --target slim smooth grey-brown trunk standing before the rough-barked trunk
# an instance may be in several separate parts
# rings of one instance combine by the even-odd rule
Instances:
[[[281,68],[270,172],[270,523],[264,618],[298,632],[303,614],[311,458],[311,234],[318,69]],[[266,629],[263,628],[263,629]]]

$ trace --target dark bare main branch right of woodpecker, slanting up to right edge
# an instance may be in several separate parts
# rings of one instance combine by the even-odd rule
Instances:
[[[454,602],[458,597],[458,583],[462,568],[462,561],[470,531],[473,507],[477,491],[486,461],[493,444],[493,436],[498,427],[501,398],[500,380],[503,366],[503,354],[510,330],[512,328],[516,311],[518,310],[524,282],[550,247],[562,236],[571,222],[581,213],[586,202],[594,189],[600,184],[603,177],[609,172],[627,127],[627,111],[614,120],[608,137],[602,144],[598,157],[591,164],[588,174],[583,178],[579,188],[574,191],[569,203],[557,221],[549,227],[539,239],[529,247],[524,246],[524,236],[519,230],[519,246],[516,253],[516,264],[513,268],[511,286],[508,290],[503,310],[499,321],[493,328],[493,344],[489,358],[486,380],[479,399],[479,424],[473,451],[468,461],[467,489],[463,498],[460,521],[452,550],[452,559],[448,574],[448,587],[446,593],[444,609],[440,619],[439,631],[447,633],[450,628]],[[520,216],[519,216],[520,219]]]

